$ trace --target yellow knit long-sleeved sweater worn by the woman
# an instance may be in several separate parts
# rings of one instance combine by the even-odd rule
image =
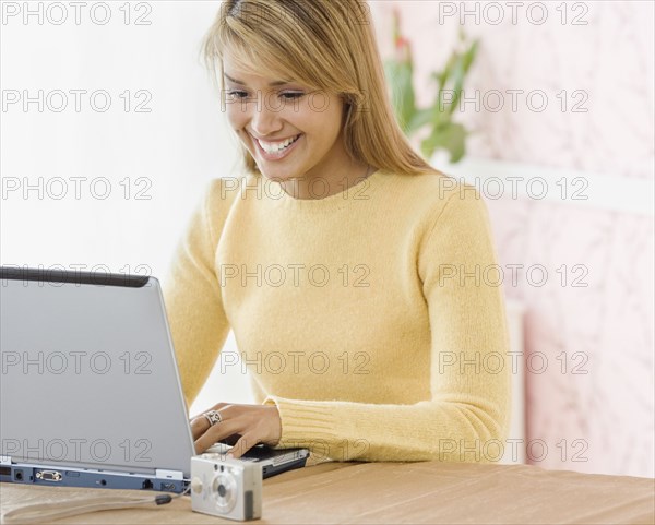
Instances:
[[[496,264],[480,194],[443,175],[379,170],[315,200],[214,180],[164,287],[187,403],[231,329],[278,448],[489,461],[510,416]]]

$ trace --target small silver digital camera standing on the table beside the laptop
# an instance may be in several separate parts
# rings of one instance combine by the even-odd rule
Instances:
[[[225,454],[191,457],[191,510],[238,521],[262,517],[262,466]]]

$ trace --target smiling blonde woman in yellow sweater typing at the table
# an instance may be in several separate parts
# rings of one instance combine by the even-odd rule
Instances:
[[[209,188],[166,305],[187,402],[231,329],[258,404],[193,418],[196,451],[489,460],[510,382],[487,211],[403,136],[368,5],[228,0],[205,52],[246,169]]]

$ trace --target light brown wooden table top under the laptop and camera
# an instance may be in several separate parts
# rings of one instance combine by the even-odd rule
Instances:
[[[28,502],[108,492],[0,484],[3,513]],[[53,523],[235,522],[191,512],[191,499],[182,497],[158,508],[104,511]],[[254,523],[653,524],[655,480],[526,465],[322,463],[264,480],[263,517]]]

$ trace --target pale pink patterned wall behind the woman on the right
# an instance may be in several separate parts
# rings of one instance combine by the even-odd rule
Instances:
[[[424,104],[432,97],[428,75],[443,65],[460,27],[457,15],[440,17],[439,3],[461,12],[462,2],[371,2],[384,56],[391,52],[391,11],[400,8]],[[507,2],[496,3],[504,12],[498,25],[490,23],[498,12],[485,11],[485,2],[465,2],[480,17],[476,24],[469,15],[464,28],[481,41],[467,92],[473,96],[479,90],[480,100],[490,90],[505,94],[497,112],[488,110],[496,106],[489,98],[479,111],[468,104],[458,115],[476,130],[467,143],[469,155],[588,171],[590,184],[593,174],[615,177],[618,188],[629,179],[653,180],[654,4],[577,2],[573,10],[569,3],[562,24],[556,10],[561,2],[545,2],[548,19],[537,25],[525,12],[537,2],[524,2],[515,24]],[[537,20],[540,13],[532,14]],[[573,25],[575,15],[587,24]],[[507,90],[541,90],[548,107],[531,110],[519,96],[514,111]],[[562,90],[569,93],[565,111],[557,98]],[[573,98],[575,90],[584,93]],[[572,111],[583,97],[581,108],[587,111]],[[541,287],[525,275],[517,286],[505,281],[505,295],[527,309],[527,355],[548,358],[545,372],[526,372],[527,438],[548,446],[540,461],[538,448],[532,450],[532,463],[654,476],[653,216],[583,208],[570,201],[508,196],[488,203],[500,264],[549,270]],[[556,273],[562,264],[568,265],[565,286]],[[571,271],[575,264],[588,271],[581,279],[588,286],[571,286],[571,278],[582,275]],[[537,369],[538,359],[532,365]]]

